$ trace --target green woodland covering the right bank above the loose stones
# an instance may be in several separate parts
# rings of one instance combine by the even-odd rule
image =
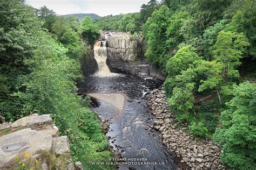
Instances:
[[[255,169],[256,4],[253,0],[151,0],[139,13],[96,20],[142,34],[146,59],[167,74],[170,110],[192,136],[213,138],[229,168]]]

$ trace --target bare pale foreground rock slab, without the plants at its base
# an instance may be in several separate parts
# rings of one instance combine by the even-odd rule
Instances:
[[[67,168],[75,169],[68,137],[59,137],[58,128],[53,124],[50,115],[33,114],[14,123],[0,125],[0,169],[10,167],[23,152],[39,156],[41,151],[48,151],[57,159],[65,155]],[[58,167],[58,164],[55,166]],[[48,165],[43,164],[42,169],[48,169]]]

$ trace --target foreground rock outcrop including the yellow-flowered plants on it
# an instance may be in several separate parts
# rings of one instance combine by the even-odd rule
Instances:
[[[44,156],[46,153],[51,158]],[[73,164],[69,139],[59,136],[50,115],[38,114],[0,124],[0,169],[17,169],[19,161],[21,164],[26,162],[22,166],[36,161],[39,169],[50,169],[52,166],[63,169],[65,166],[65,169],[73,170],[76,164],[80,164]]]

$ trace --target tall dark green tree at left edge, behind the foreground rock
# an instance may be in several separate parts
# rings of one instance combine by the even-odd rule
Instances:
[[[36,52],[40,22],[24,1],[1,1],[0,13],[0,110],[7,121],[14,121],[20,115],[22,101],[10,94],[17,91],[19,77],[30,73],[24,59]]]

